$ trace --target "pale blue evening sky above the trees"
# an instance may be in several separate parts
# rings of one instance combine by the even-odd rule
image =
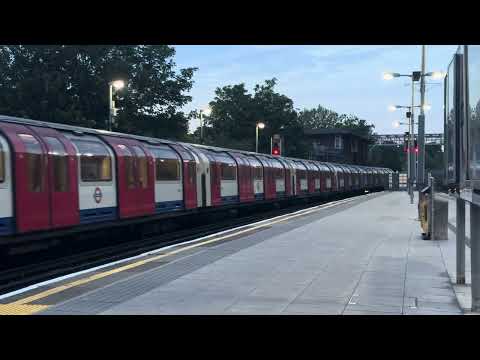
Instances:
[[[190,91],[192,102],[183,110],[205,108],[215,89],[277,78],[276,90],[293,100],[297,109],[322,105],[338,113],[353,114],[375,125],[378,134],[407,131],[395,128],[405,121],[405,111],[389,112],[389,105],[410,105],[410,78],[383,80],[392,71],[411,74],[420,70],[420,45],[179,45],[178,68],[197,67]],[[426,71],[446,71],[457,45],[431,45],[426,51]],[[419,87],[415,104],[420,103]],[[426,132],[443,132],[442,81],[427,78]],[[199,125],[190,122],[190,131]]]

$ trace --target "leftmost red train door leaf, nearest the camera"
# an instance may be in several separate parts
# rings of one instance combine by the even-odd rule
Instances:
[[[12,145],[14,208],[18,232],[50,228],[47,150],[35,133],[20,124],[0,123]]]

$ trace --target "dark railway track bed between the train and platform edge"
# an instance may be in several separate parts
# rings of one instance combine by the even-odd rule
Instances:
[[[358,196],[358,195],[357,195]],[[347,198],[351,196],[343,196]],[[328,203],[332,200],[310,202],[308,204],[293,205],[282,209],[264,210],[253,215],[227,219],[212,224],[195,226],[161,235],[155,235],[142,240],[125,241],[121,243],[91,248],[73,254],[58,253],[58,257],[12,267],[0,271],[0,295],[20,288],[36,284],[52,278],[67,275],[96,266],[108,264],[121,259],[140,255],[158,249],[158,247],[180,244],[199,237],[208,236],[220,231],[229,230],[238,226],[265,220],[275,216],[289,214],[308,207]]]

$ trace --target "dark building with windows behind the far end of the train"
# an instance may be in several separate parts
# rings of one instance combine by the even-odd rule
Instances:
[[[311,158],[320,161],[366,165],[370,140],[349,129],[305,130]]]

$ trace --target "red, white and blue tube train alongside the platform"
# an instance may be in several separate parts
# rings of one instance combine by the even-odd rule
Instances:
[[[385,189],[390,172],[0,116],[0,240]]]

